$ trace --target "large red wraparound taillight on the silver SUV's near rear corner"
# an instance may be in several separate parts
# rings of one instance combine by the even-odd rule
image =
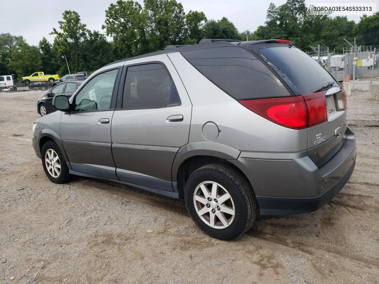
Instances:
[[[305,129],[327,121],[325,92],[240,100],[239,103],[265,119],[291,129]]]

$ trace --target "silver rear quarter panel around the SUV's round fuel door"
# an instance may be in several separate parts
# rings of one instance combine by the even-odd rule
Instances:
[[[180,53],[169,53],[193,105],[189,143],[207,141],[203,127],[207,122],[218,126],[213,142],[239,151],[299,152],[307,149],[308,130],[291,130],[270,122],[242,106],[205,76]]]

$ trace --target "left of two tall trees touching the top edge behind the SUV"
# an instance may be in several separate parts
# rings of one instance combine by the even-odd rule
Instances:
[[[149,52],[147,18],[149,14],[138,2],[118,0],[105,11],[106,35],[113,37],[118,59]]]

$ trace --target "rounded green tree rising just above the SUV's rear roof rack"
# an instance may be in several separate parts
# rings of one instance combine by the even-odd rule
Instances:
[[[235,25],[226,17],[221,20],[208,20],[204,24],[204,37],[208,39],[238,39],[238,33]]]

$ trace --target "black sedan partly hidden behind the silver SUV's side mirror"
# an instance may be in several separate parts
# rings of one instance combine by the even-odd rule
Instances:
[[[83,83],[83,81],[72,81],[67,83],[59,83],[55,87],[49,90],[46,94],[40,97],[37,101],[37,112],[41,116],[45,116],[55,109],[52,108],[52,100],[56,95],[65,95],[67,98],[71,97],[72,94],[78,89],[78,87]]]

